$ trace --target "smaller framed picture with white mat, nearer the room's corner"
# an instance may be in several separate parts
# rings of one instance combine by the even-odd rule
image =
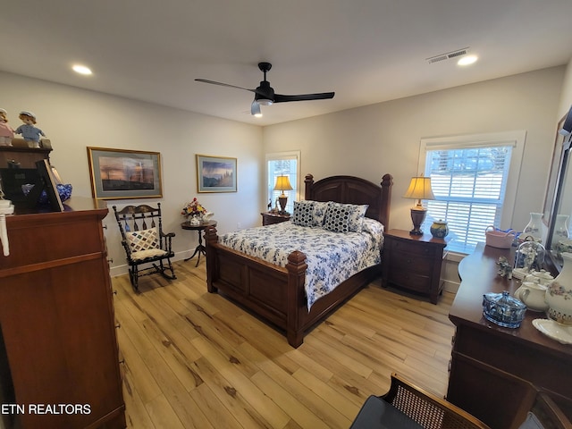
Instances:
[[[198,192],[236,192],[236,158],[197,155]]]

